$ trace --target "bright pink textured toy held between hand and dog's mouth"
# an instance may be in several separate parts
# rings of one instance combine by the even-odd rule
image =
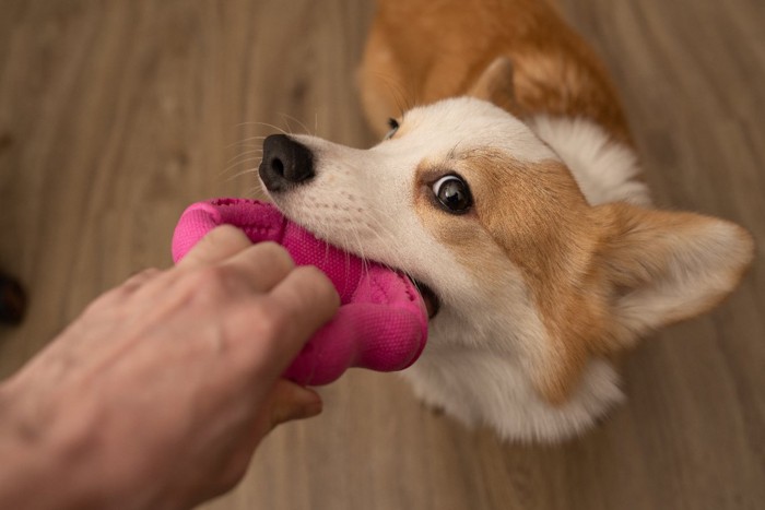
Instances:
[[[308,341],[285,377],[319,386],[350,367],[393,371],[417,359],[427,340],[427,312],[405,275],[317,239],[269,203],[245,199],[189,206],[175,228],[173,260],[222,224],[240,228],[252,242],[281,244],[296,264],[323,271],[340,294],[340,310]]]

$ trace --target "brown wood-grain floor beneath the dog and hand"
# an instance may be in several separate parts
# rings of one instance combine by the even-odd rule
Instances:
[[[613,71],[657,201],[765,246],[765,3],[562,0]],[[184,206],[254,195],[255,137],[372,142],[360,0],[0,0],[0,266],[31,292],[0,376],[130,273]],[[262,122],[262,123],[261,123]],[[765,261],[626,366],[628,403],[561,447],[499,443],[350,373],[210,509],[765,508]]]

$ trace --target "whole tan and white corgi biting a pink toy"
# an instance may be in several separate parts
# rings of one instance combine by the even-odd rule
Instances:
[[[753,258],[730,222],[651,207],[603,66],[543,0],[380,0],[361,83],[373,126],[391,118],[379,144],[272,135],[259,175],[291,220],[420,286],[429,340],[403,375],[468,425],[582,432],[624,398],[620,353]]]

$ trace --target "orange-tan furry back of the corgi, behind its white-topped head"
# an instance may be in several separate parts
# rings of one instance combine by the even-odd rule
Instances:
[[[513,83],[495,91],[498,106],[589,118],[632,143],[605,68],[557,11],[539,0],[462,0],[448,8],[429,0],[379,2],[360,74],[367,118],[384,134],[387,117],[468,94],[498,57],[509,59],[515,71]]]

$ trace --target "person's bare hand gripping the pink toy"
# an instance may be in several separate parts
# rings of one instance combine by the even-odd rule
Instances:
[[[280,375],[338,306],[320,271],[228,226],[133,276],[0,387],[0,506],[188,508],[232,488],[271,428],[320,412]]]

